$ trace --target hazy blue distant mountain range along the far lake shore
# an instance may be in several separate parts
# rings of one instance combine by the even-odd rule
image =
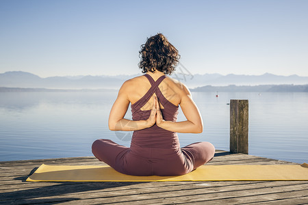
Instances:
[[[11,71],[0,74],[0,87],[27,87],[48,89],[119,89],[125,80],[136,77],[133,75],[116,76],[78,76],[78,77],[47,77],[41,78],[35,74],[21,71]],[[274,74],[239,75],[239,74],[172,74],[190,88],[226,85],[281,85],[308,84],[308,77],[290,75],[288,77]]]

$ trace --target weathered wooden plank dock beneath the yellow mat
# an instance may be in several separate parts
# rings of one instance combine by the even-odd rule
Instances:
[[[0,204],[307,204],[307,181],[26,182],[42,163],[102,165],[94,157],[0,162]],[[207,165],[296,164],[221,150]]]

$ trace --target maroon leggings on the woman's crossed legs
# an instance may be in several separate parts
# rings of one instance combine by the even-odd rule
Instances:
[[[192,143],[184,148],[140,148],[120,146],[110,139],[97,139],[92,152],[116,171],[134,176],[176,176],[192,172],[214,157],[209,142]]]

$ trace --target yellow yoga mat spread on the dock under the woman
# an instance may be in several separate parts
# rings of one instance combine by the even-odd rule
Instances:
[[[40,165],[27,181],[151,182],[220,180],[308,180],[303,165],[203,165],[182,176],[129,176],[106,165]]]

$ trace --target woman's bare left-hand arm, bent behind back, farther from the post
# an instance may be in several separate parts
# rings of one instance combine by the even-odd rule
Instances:
[[[138,131],[144,128],[149,128],[155,124],[156,108],[153,103],[153,109],[151,111],[148,120],[127,120],[124,118],[125,113],[129,107],[129,100],[127,97],[127,82],[123,83],[118,92],[118,97],[112,106],[110,111],[108,126],[111,131]]]

